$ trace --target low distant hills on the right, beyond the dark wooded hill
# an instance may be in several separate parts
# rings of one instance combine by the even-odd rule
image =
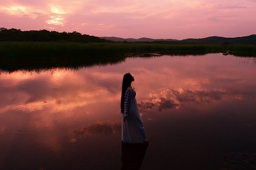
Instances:
[[[256,35],[244,36],[244,37],[234,37],[234,38],[226,38],[226,37],[206,37],[204,39],[184,39],[184,40],[175,40],[175,39],[122,39],[119,37],[99,37],[100,39],[111,40],[115,42],[174,42],[174,43],[195,43],[195,44],[256,44]]]

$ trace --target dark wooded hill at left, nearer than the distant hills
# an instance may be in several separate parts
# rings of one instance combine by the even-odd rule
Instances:
[[[110,42],[96,36],[82,35],[79,32],[56,32],[42,29],[40,31],[21,31],[20,29],[0,28],[0,41],[34,41],[34,42]]]

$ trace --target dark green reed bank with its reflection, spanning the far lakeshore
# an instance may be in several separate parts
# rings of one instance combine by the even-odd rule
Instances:
[[[256,45],[0,42],[0,69],[81,67],[117,63],[127,56],[204,55],[229,51],[235,56],[256,57]]]

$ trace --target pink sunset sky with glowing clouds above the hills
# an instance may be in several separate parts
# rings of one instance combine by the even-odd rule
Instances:
[[[256,0],[6,0],[0,27],[187,39],[256,33]]]

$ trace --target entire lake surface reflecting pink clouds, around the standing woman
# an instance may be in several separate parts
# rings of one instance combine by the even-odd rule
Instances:
[[[150,141],[143,151],[121,143],[128,72]],[[255,58],[162,56],[2,71],[0,96],[0,169],[125,169],[129,161],[141,169],[221,169],[256,160]]]

